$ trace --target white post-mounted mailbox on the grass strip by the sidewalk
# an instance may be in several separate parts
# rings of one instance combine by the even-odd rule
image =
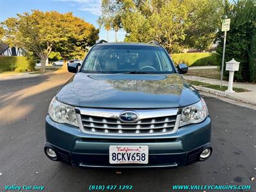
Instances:
[[[226,62],[226,70],[229,70],[229,79],[228,79],[228,90],[227,93],[234,93],[233,91],[233,80],[235,71],[239,70],[239,63],[234,58],[231,61]]]

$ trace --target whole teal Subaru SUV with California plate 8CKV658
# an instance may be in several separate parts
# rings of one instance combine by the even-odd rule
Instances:
[[[176,167],[211,156],[211,119],[157,42],[93,45],[56,93],[44,151],[80,167]]]

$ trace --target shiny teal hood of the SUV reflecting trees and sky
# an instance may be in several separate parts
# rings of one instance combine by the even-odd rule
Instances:
[[[85,74],[73,76],[56,99],[87,108],[177,108],[200,100],[179,74]]]

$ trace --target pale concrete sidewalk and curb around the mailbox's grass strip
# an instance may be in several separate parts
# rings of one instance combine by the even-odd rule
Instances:
[[[220,84],[218,79],[210,79],[206,77],[197,77],[197,76],[183,76],[184,79],[191,81],[201,81],[209,84]],[[223,81],[223,86],[228,86],[228,81]],[[195,86],[197,90],[202,92],[213,93],[215,95],[221,95],[223,97],[228,97],[229,99],[241,100],[246,103],[256,105],[256,84],[252,83],[236,83],[234,82],[233,87],[243,88],[249,90],[250,92],[241,92],[241,93],[226,93],[218,90],[212,90],[210,88],[204,88],[200,86]]]

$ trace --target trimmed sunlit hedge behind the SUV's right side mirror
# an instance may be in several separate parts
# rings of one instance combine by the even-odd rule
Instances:
[[[188,66],[218,65],[217,54],[211,52],[189,52],[172,54],[175,65],[186,63]]]

